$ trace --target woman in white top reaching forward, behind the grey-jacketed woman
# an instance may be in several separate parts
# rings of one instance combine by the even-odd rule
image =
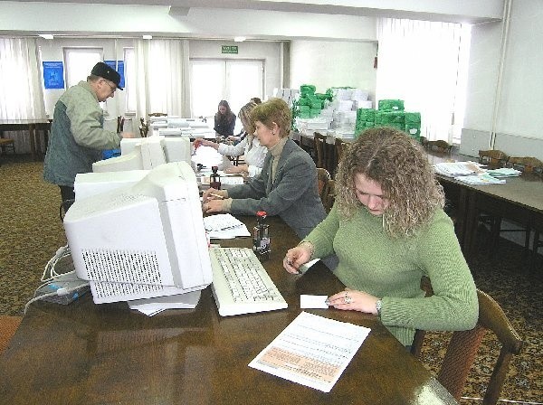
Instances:
[[[254,177],[257,174],[260,174],[262,171],[262,165],[264,164],[264,157],[268,153],[268,149],[262,146],[259,140],[254,137],[254,129],[250,114],[252,108],[256,107],[256,104],[249,102],[245,104],[240,112],[238,117],[243,124],[243,130],[245,132],[245,137],[243,140],[233,146],[226,144],[217,144],[216,142],[208,141],[201,138],[195,139],[195,147],[200,145],[211,146],[217,150],[221,155],[228,156],[241,156],[244,155],[245,165],[237,165],[227,167],[224,171],[226,173],[241,173],[247,174],[249,177]]]

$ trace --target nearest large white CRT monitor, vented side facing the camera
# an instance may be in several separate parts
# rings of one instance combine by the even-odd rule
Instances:
[[[212,281],[195,173],[159,165],[137,184],[76,199],[64,216],[95,303],[189,293]]]

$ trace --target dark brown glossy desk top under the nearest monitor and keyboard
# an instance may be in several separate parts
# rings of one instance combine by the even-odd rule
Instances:
[[[252,227],[252,218],[246,221]],[[342,289],[322,265],[306,275],[281,265],[297,239],[271,218],[264,267],[289,303],[281,311],[221,317],[207,287],[194,310],[148,317],[126,303],[36,303],[0,357],[0,402],[9,404],[422,404],[456,403],[376,316],[334,309],[319,316],[372,329],[329,393],[248,367],[300,314],[300,294]],[[250,246],[249,238],[223,246]]]

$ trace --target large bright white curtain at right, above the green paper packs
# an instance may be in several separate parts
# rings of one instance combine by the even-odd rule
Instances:
[[[378,21],[376,102],[403,99],[421,113],[421,136],[452,143],[462,126],[470,25],[382,18]]]

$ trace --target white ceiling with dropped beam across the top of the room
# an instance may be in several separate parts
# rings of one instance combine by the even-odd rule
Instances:
[[[0,0],[0,6],[4,35],[376,41],[376,17],[481,24],[500,20],[503,0]]]

